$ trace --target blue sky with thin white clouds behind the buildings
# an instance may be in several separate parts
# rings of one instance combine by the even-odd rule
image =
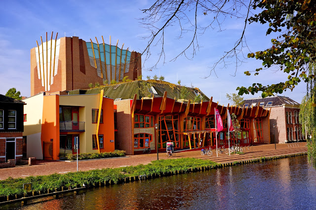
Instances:
[[[149,8],[152,1],[104,1],[104,0],[10,0],[2,1],[0,7],[0,94],[15,87],[22,96],[31,95],[30,75],[30,50],[40,42],[40,36],[48,36],[51,32],[58,33],[58,37],[79,36],[89,41],[102,39],[112,43],[118,39],[118,46],[124,43],[124,49],[142,52],[147,41],[142,37],[149,32],[142,27],[139,19],[144,17],[141,9]],[[211,15],[198,14],[198,25],[206,25],[212,20]],[[209,98],[220,105],[228,105],[226,94],[237,93],[238,86],[251,86],[252,83],[263,85],[285,81],[287,74],[272,70],[264,70],[257,76],[246,76],[244,71],[255,70],[262,67],[260,61],[246,59],[236,67],[230,65],[226,68],[219,66],[215,72],[210,70],[224,52],[230,50],[242,32],[241,19],[227,18],[222,24],[222,32],[218,28],[207,30],[203,35],[198,35],[199,49],[191,58],[192,50],[187,55],[172,61],[191,41],[191,34],[186,33],[180,39],[178,27],[166,29],[164,39],[165,62],[159,62],[157,68],[152,67],[158,61],[161,46],[151,48],[151,56],[145,61],[142,56],[143,79],[146,76],[162,75],[165,81],[199,88]],[[264,50],[271,47],[271,38],[276,35],[266,36],[267,26],[251,24],[247,26],[245,36],[251,52]],[[246,55],[249,51],[243,51]],[[206,78],[205,78],[206,77]],[[301,103],[306,94],[306,84],[301,82],[292,92],[287,90],[280,94]],[[261,96],[243,95],[244,99]]]

